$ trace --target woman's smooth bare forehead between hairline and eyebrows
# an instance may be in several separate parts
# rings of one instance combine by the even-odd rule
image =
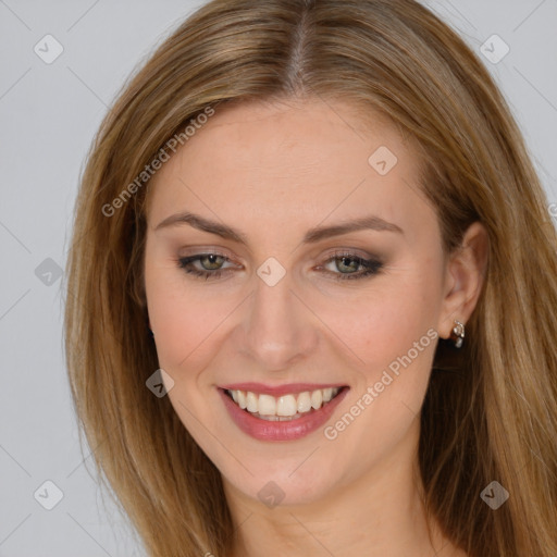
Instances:
[[[411,219],[419,163],[398,128],[369,109],[321,99],[245,102],[218,108],[157,172],[147,216],[152,225],[191,209],[267,228],[333,213]]]

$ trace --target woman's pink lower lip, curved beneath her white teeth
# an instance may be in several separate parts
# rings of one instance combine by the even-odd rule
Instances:
[[[348,393],[348,388],[343,388],[338,395],[319,410],[295,420],[282,422],[256,418],[248,411],[243,410],[222,388],[219,388],[219,393],[231,418],[244,433],[259,441],[295,441],[319,430],[331,418],[335,408]]]

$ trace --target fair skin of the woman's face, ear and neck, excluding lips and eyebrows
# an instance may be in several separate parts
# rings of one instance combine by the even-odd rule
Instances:
[[[366,123],[364,123],[366,122]],[[385,146],[397,163],[369,163]],[[372,158],[373,161],[373,158]],[[462,247],[442,249],[434,209],[417,183],[419,159],[398,128],[357,107],[320,99],[239,103],[210,121],[153,176],[147,209],[145,282],[170,400],[222,474],[235,523],[234,557],[463,557],[426,520],[418,442],[435,342],[329,440],[257,441],[230,419],[219,385],[343,384],[349,411],[397,357],[431,329],[447,338],[467,322],[486,265],[487,236],[474,223]],[[183,211],[225,224],[246,244],[188,223]],[[358,230],[302,242],[308,230],[374,215],[392,230]],[[158,227],[159,226],[159,227]],[[214,273],[198,277],[180,267]],[[379,260],[361,278],[358,262]],[[268,258],[286,271],[274,286]],[[335,259],[336,257],[336,259]],[[187,473],[187,470],[184,470]],[[269,508],[268,482],[284,492]]]

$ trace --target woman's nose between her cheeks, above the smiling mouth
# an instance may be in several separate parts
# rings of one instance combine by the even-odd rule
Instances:
[[[294,292],[286,275],[274,286],[257,277],[246,301],[235,346],[263,370],[286,370],[317,347],[317,319]]]

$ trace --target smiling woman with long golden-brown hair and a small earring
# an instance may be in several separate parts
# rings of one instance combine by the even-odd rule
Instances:
[[[412,0],[213,1],[90,152],[66,355],[150,556],[557,553],[557,245]]]

